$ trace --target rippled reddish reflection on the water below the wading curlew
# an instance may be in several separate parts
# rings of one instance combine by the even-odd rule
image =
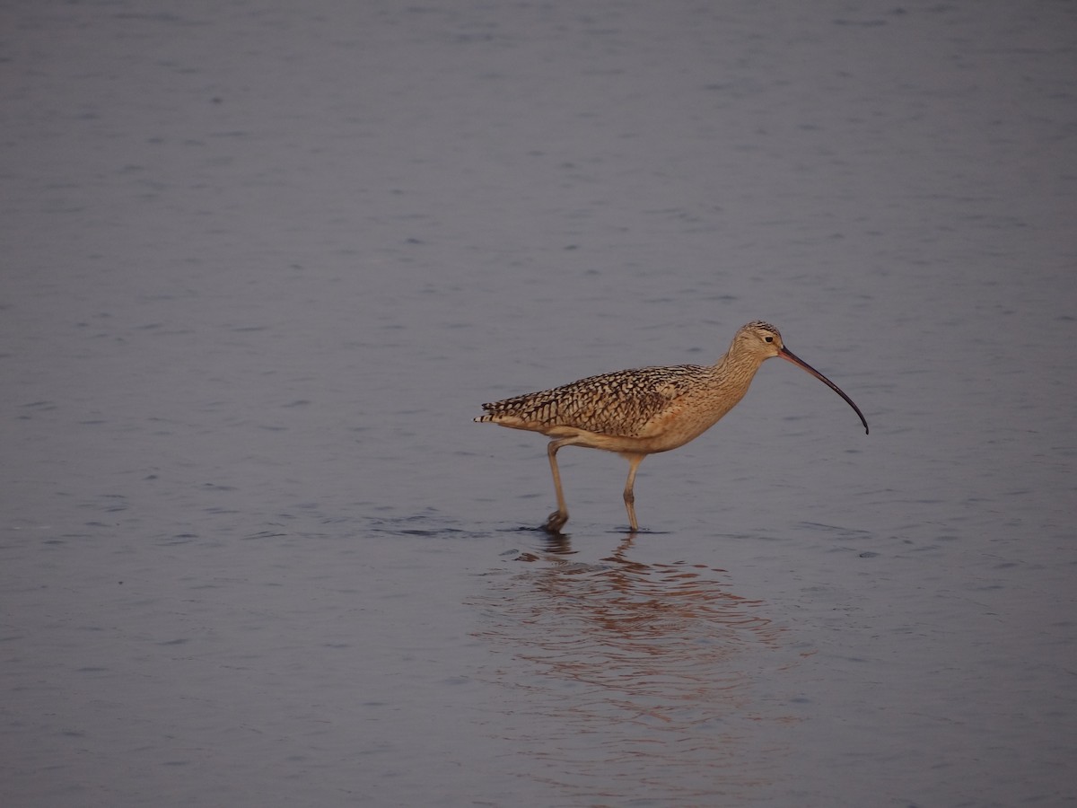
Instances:
[[[687,799],[764,784],[766,755],[795,720],[778,679],[802,656],[766,603],[729,591],[724,570],[632,560],[633,537],[599,563],[568,558],[565,537],[551,541],[519,557],[535,568],[481,599],[476,632],[527,663],[498,680],[519,689],[520,740],[559,764],[550,777],[627,778]]]

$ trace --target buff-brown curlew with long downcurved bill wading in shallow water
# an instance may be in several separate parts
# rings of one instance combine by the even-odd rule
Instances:
[[[542,432],[554,438],[546,454],[554,473],[557,511],[543,526],[551,533],[559,533],[569,520],[557,450],[562,446],[586,446],[618,452],[628,460],[625,507],[635,531],[639,524],[632,486],[643,458],[684,446],[717,423],[744,398],[755,372],[771,357],[802,367],[838,393],[856,410],[867,434],[867,419],[853,400],[786,348],[778,329],[761,320],[741,326],[729,350],[713,365],[639,367],[590,376],[553,390],[484,404],[486,415],[475,421]]]

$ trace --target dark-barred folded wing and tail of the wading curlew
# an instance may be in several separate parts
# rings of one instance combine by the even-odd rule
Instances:
[[[638,436],[685,393],[713,380],[700,365],[638,367],[604,373],[563,387],[484,404],[477,422],[512,419],[524,429],[573,427],[606,435]],[[527,426],[524,426],[527,424]],[[509,424],[506,424],[509,426]]]

